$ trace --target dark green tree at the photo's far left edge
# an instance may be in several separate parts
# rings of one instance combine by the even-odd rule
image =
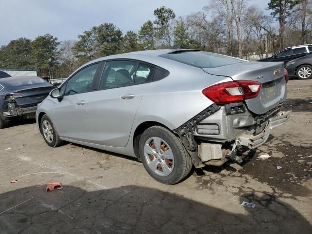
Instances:
[[[0,48],[0,68],[34,68],[31,53],[31,40],[19,38],[11,40]]]

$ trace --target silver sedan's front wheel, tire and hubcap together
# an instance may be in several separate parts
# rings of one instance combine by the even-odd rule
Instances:
[[[47,115],[42,116],[40,129],[43,139],[48,146],[58,147],[63,143],[63,141],[59,138],[59,134],[56,131],[51,119]]]

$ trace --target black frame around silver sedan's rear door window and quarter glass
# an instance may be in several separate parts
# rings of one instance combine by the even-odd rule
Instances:
[[[127,85],[123,85],[123,86],[119,86],[119,87],[111,87],[111,88],[103,88],[103,89],[101,89],[101,88],[100,88],[100,83],[101,83],[101,81],[102,81],[103,73],[104,73],[104,70],[105,70],[105,67],[106,67],[107,62],[110,62],[110,61],[132,61],[132,62],[137,62],[137,67],[138,67],[138,65],[139,65],[140,63],[146,64],[146,65],[149,65],[149,66],[153,66],[153,67],[155,67],[154,74],[155,74],[156,69],[162,70],[162,71],[164,71],[164,72],[167,74],[167,75],[166,75],[165,77],[163,77],[163,78],[168,77],[169,74],[170,74],[170,72],[169,72],[168,70],[166,70],[166,69],[164,69],[164,68],[162,68],[162,67],[159,67],[159,66],[157,66],[157,65],[155,65],[155,64],[153,64],[153,63],[149,63],[149,62],[142,61],[142,60],[138,60],[138,59],[107,59],[107,60],[103,60],[103,61],[102,61],[102,62],[105,63],[105,64],[104,64],[104,66],[103,66],[103,68],[102,68],[102,70],[101,70],[101,72],[100,72],[98,87],[97,87],[97,89],[96,89],[95,91],[97,91],[97,90],[107,90],[107,89],[117,89],[117,88],[122,88],[122,87],[133,86],[133,85],[140,85],[140,84],[148,84],[148,83],[156,82],[156,81],[159,81],[159,80],[163,79],[163,78],[161,78],[161,79],[153,80],[153,78],[154,78],[154,74],[153,74],[152,80],[147,81],[147,82],[144,82],[144,83],[135,83],[135,82],[133,81],[132,84],[127,84]],[[136,75],[136,74],[137,74],[137,68],[136,68],[136,73],[135,73],[135,75]]]

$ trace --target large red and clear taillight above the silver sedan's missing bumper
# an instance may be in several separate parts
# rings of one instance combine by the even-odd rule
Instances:
[[[202,91],[203,95],[216,104],[241,102],[257,97],[261,83],[249,80],[235,80],[208,87]]]

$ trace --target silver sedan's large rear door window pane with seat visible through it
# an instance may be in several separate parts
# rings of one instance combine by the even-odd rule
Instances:
[[[117,88],[133,84],[137,65],[137,62],[125,60],[106,62],[100,89]]]

